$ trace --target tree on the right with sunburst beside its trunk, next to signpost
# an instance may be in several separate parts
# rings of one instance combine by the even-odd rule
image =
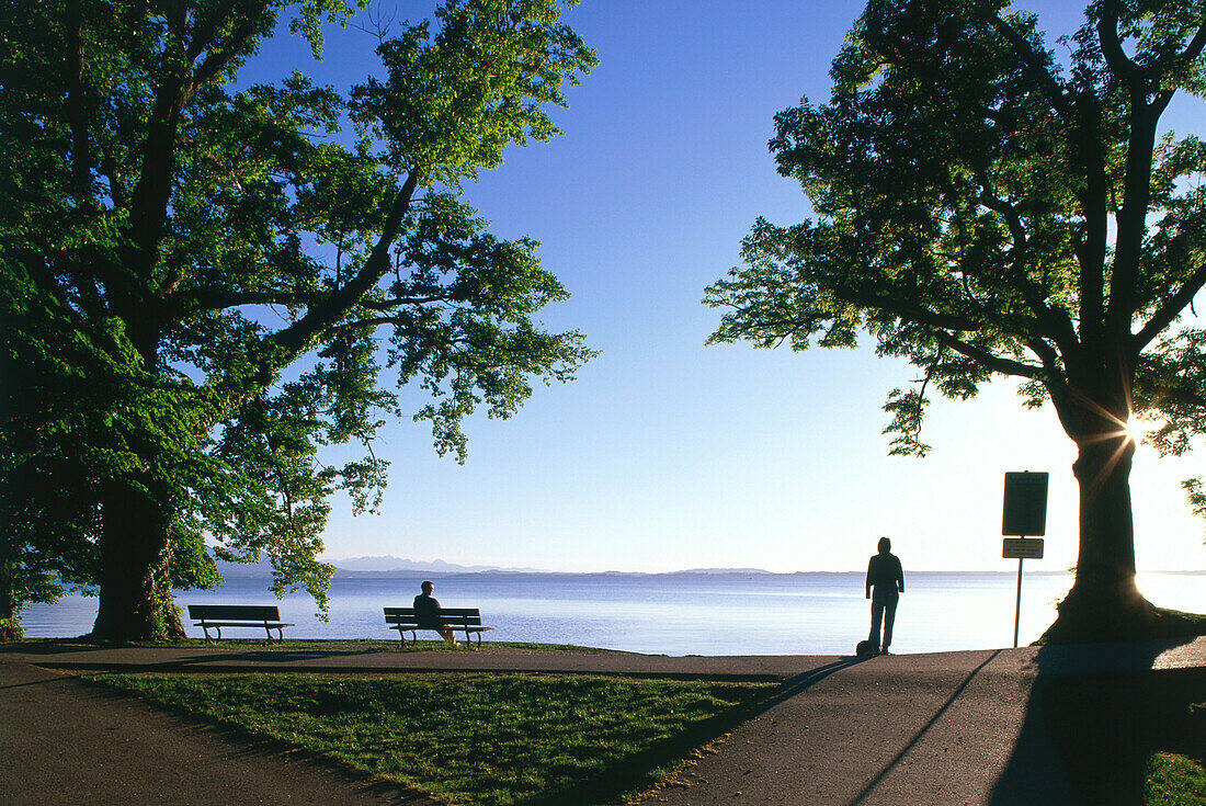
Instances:
[[[894,391],[891,452],[924,455],[927,390],[993,376],[1049,401],[1078,455],[1079,557],[1053,638],[1141,633],[1132,416],[1183,451],[1206,413],[1206,146],[1158,138],[1175,93],[1206,90],[1206,4],[1100,0],[1048,49],[1001,0],[872,0],[829,104],[775,117],[771,150],[814,221],[760,220],[745,265],[708,288],[710,341],[850,347],[924,373]]]

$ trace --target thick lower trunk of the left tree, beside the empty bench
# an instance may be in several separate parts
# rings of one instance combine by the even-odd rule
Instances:
[[[94,639],[185,637],[168,573],[171,513],[150,486],[115,480],[105,491]]]

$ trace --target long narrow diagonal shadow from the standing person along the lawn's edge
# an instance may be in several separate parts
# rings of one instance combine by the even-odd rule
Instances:
[[[692,752],[704,747],[742,723],[765,713],[809,688],[830,674],[870,660],[868,658],[843,658],[812,671],[788,678],[768,696],[751,705],[732,708],[695,723],[689,730],[662,740],[636,753],[602,772],[573,784],[552,787],[520,801],[520,806],[564,806],[566,804],[610,804],[622,795],[633,795],[657,782],[660,771],[677,766]]]

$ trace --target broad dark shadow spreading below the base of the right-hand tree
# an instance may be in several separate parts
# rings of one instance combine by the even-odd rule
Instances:
[[[1134,806],[1143,802],[1152,753],[1206,758],[1206,711],[1190,711],[1206,700],[1206,668],[1151,668],[1176,644],[1119,649],[1143,654],[1126,659],[1129,671],[1072,670],[1060,648],[1041,650],[1026,719],[991,806]]]

